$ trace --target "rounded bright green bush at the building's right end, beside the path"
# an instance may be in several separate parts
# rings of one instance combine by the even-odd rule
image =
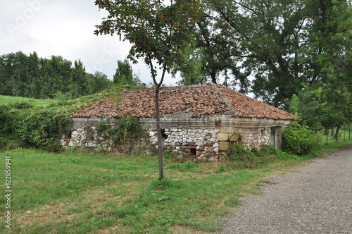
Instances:
[[[282,151],[289,154],[309,154],[319,146],[320,137],[306,125],[294,123],[282,132]]]

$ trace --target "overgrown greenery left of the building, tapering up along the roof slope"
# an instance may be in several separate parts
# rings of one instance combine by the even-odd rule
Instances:
[[[58,103],[24,99],[0,104],[0,149],[22,146],[58,151],[61,135],[69,133],[72,126],[70,113],[106,95],[94,94]]]

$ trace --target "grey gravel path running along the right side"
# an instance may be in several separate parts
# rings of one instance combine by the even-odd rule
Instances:
[[[221,233],[352,233],[352,147],[294,171],[246,198]]]

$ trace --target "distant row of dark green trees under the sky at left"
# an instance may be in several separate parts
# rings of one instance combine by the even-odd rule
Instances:
[[[0,95],[53,98],[56,95],[79,97],[101,92],[112,85],[101,72],[86,73],[82,61],[61,56],[39,58],[34,51],[0,56]]]

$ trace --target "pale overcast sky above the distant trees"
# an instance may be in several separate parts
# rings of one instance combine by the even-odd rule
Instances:
[[[130,44],[118,36],[94,35],[94,26],[106,16],[94,0],[0,0],[0,54],[36,51],[44,58],[80,59],[88,73],[99,70],[112,79]],[[142,82],[152,82],[143,61],[132,68]],[[170,75],[164,80],[168,86],[176,82]]]

